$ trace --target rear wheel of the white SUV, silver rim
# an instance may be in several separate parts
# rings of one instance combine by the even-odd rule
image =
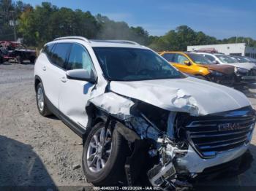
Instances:
[[[37,109],[39,113],[42,114],[42,116],[48,116],[52,114],[46,105],[45,90],[41,82],[37,85]]]

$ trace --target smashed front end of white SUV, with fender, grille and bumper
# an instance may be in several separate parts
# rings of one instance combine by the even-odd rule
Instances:
[[[184,109],[184,99],[195,103],[190,96],[179,94],[173,103]],[[135,145],[125,165],[130,186],[140,173],[161,190],[192,187],[189,181],[207,168],[243,155],[255,126],[251,106],[200,116],[189,105],[187,112],[168,111],[113,92],[92,98],[89,104],[121,122],[118,132]]]

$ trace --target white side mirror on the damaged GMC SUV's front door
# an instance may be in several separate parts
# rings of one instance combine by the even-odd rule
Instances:
[[[85,69],[74,69],[66,71],[67,79],[76,79],[76,80],[82,80],[91,82],[94,84],[96,82],[96,77],[94,76],[94,73],[91,71],[87,71]]]

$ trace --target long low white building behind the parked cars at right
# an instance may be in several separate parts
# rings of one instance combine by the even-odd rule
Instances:
[[[224,53],[225,55],[243,55],[256,58],[256,47],[248,47],[246,46],[246,43],[208,44],[187,47],[187,51],[196,51],[200,49],[215,49],[217,52]]]

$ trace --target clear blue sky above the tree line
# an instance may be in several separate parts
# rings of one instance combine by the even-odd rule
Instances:
[[[48,1],[48,0],[45,0]],[[23,0],[32,6],[41,0]],[[164,35],[177,26],[215,36],[256,39],[256,0],[51,0],[57,7],[90,11],[142,26],[150,35]]]

